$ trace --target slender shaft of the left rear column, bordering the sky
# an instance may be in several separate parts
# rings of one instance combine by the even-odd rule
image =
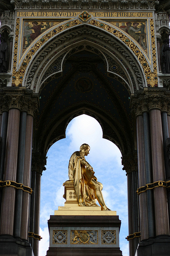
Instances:
[[[36,174],[36,195],[35,195],[35,219],[34,219],[34,233],[39,234],[40,224],[40,193],[41,193],[41,174]],[[34,240],[34,255],[38,256],[39,241]]]

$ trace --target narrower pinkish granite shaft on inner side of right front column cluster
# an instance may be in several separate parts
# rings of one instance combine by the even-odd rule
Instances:
[[[137,154],[138,154],[138,178],[139,187],[146,184],[145,178],[145,157],[144,157],[144,139],[143,139],[143,119],[138,116],[136,119],[137,130]],[[140,209],[140,230],[141,240],[148,239],[148,209],[147,209],[147,194],[141,193],[139,195],[139,209]]]

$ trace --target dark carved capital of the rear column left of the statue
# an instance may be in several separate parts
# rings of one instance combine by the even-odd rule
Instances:
[[[40,152],[32,152],[32,171],[42,175],[43,170],[46,170],[46,156]]]

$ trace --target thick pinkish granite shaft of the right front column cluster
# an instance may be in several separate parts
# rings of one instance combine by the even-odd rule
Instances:
[[[163,152],[163,134],[161,111],[154,109],[150,111],[151,127],[151,150],[153,182],[165,180],[165,165]],[[167,214],[167,193],[165,187],[154,188],[154,208],[155,208],[155,230],[156,236],[169,234],[168,214]]]

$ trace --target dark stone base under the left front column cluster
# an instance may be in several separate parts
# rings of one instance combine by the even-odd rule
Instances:
[[[13,238],[12,236],[0,236],[0,255],[8,256],[34,256],[28,241]]]

